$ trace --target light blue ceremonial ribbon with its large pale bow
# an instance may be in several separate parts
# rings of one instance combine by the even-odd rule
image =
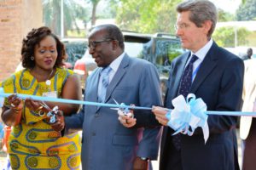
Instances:
[[[0,88],[0,107],[3,107],[4,98],[9,97],[11,94],[6,94],[3,88]],[[97,107],[112,107],[123,110],[152,110],[152,107],[141,107],[134,105],[122,104],[105,104],[83,100],[74,99],[57,99],[51,97],[42,97],[28,94],[16,94],[20,99],[34,99],[39,101],[48,101],[55,103],[68,103],[77,105],[95,105]],[[195,99],[195,94],[189,94],[185,100],[182,95],[172,99],[173,110],[165,109],[167,111],[166,117],[169,120],[167,125],[172,127],[176,133],[184,133],[189,136],[193,135],[196,127],[201,127],[204,134],[205,142],[209,137],[209,128],[207,124],[208,115],[218,116],[256,116],[256,112],[241,112],[241,111],[207,111],[207,105],[202,99]],[[189,130],[189,127],[191,130]]]

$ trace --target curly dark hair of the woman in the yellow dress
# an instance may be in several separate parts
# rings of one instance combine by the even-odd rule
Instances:
[[[48,27],[42,26],[39,28],[33,28],[32,31],[28,32],[26,38],[24,38],[22,41],[21,62],[24,68],[32,69],[35,66],[35,60],[31,59],[31,57],[34,55],[35,46],[47,36],[53,37],[56,42],[58,56],[54,67],[61,67],[62,59],[65,55],[64,44],[58,37],[55,36],[55,34],[50,31]]]

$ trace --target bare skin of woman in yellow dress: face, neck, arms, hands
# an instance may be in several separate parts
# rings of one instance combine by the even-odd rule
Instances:
[[[47,79],[54,77],[55,75],[55,62],[57,59],[57,50],[55,39],[51,36],[44,37],[41,42],[34,48],[34,61],[35,66],[31,69],[31,74],[37,79],[38,82],[45,82]],[[52,73],[52,74],[50,74]],[[71,90],[77,89],[77,90]],[[63,99],[82,99],[82,90],[80,88],[79,77],[76,75],[69,76],[67,82],[65,82],[61,97]],[[8,108],[3,106],[2,119],[5,124],[10,126],[15,126],[20,123],[21,109],[26,105],[31,111],[37,111],[41,106],[40,101],[35,101],[32,99],[26,99],[23,102],[21,99],[16,98],[15,95],[9,96],[9,104],[15,105],[15,107]],[[45,102],[50,108],[58,105],[60,111],[65,111],[64,115],[71,115],[79,110],[79,105],[73,104],[61,104],[61,103],[50,103]],[[16,111],[15,111],[16,110]],[[17,112],[17,110],[19,112]],[[48,111],[43,109],[43,111]]]

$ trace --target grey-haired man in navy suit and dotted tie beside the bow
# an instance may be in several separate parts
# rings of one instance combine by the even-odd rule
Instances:
[[[207,0],[192,0],[177,5],[176,33],[189,52],[173,59],[165,106],[179,94],[195,94],[207,104],[208,111],[239,111],[243,82],[243,62],[212,41],[217,9]],[[196,56],[196,57],[193,57]],[[191,62],[191,60],[193,62]],[[187,66],[193,65],[189,75]],[[189,81],[185,81],[190,79]],[[188,85],[188,83],[190,83]],[[186,92],[187,91],[187,92]],[[186,92],[186,93],[184,93]],[[154,108],[156,119],[164,126],[166,111]],[[172,113],[171,113],[172,116]],[[214,116],[207,119],[210,136],[207,143],[201,128],[192,136],[177,134],[164,127],[161,139],[160,170],[234,170],[238,167],[236,117]]]

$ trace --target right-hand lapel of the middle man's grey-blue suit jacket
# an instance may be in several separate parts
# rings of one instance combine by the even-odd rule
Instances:
[[[108,85],[105,103],[108,101],[108,99],[110,99],[110,96],[113,93],[114,88],[117,86],[119,81],[125,75],[127,65],[129,65],[129,57],[127,54],[125,54],[124,58],[122,59],[119,65],[119,69],[116,71],[112,81]]]

